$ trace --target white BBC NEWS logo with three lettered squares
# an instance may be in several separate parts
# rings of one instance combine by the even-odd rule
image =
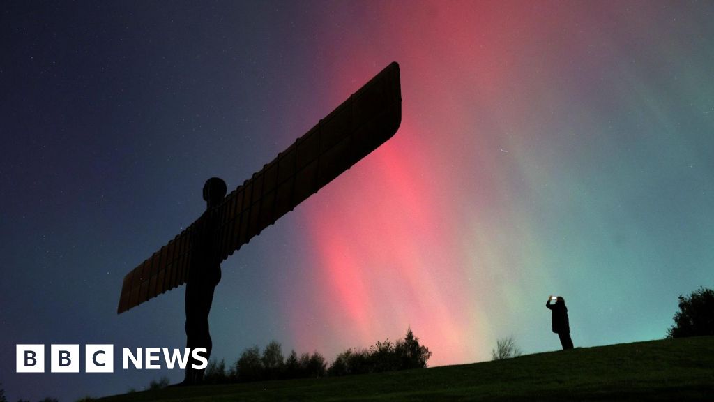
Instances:
[[[16,345],[17,373],[44,373],[45,371],[45,345]],[[134,366],[138,370],[158,370],[162,368],[161,357],[164,358],[166,368],[173,369],[178,366],[185,370],[189,358],[200,364],[191,364],[192,368],[201,370],[208,366],[206,348],[173,349],[169,348],[136,348],[136,353],[130,348],[122,350],[122,367],[129,370]],[[50,372],[51,373],[79,373],[79,345],[50,345]],[[144,364],[142,364],[144,363]],[[84,372],[85,373],[114,373],[114,345],[84,345]]]

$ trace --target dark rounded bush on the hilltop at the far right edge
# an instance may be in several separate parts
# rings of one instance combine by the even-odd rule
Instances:
[[[688,297],[679,295],[679,311],[666,338],[714,335],[714,290],[700,287]]]

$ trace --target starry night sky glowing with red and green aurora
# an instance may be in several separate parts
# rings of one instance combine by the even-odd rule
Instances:
[[[558,350],[551,293],[576,347],[652,340],[714,285],[712,2],[0,7],[10,401],[180,381],[121,348],[183,348],[183,288],[116,315],[122,278],[393,61],[401,128],[223,263],[213,357],[409,326],[429,366]],[[16,374],[17,343],[112,343],[115,372]]]

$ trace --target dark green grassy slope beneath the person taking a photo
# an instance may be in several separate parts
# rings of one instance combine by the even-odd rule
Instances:
[[[714,401],[714,337],[537,353],[393,373],[167,388],[139,401]]]

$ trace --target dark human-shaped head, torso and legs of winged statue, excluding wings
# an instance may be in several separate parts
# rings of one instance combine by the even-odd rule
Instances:
[[[211,177],[203,185],[206,212],[196,221],[191,237],[191,259],[186,280],[186,348],[206,348],[206,360],[211,356],[211,333],[208,313],[213,303],[213,290],[221,281],[221,257],[218,254],[218,212],[216,206],[226,196],[226,182]],[[201,363],[191,356],[186,366],[182,385],[196,385],[203,381],[203,369],[193,368]]]

